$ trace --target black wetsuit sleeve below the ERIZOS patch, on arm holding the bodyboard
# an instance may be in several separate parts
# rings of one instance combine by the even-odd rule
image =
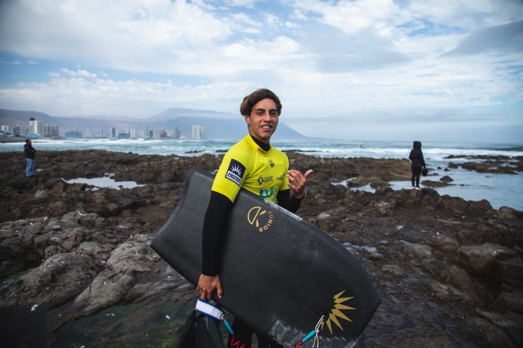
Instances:
[[[231,200],[221,193],[211,191],[211,198],[203,220],[201,273],[214,276],[221,264],[225,223],[232,209]]]

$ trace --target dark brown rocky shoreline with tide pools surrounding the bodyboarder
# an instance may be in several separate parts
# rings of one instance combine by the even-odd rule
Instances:
[[[21,153],[0,153],[4,342],[173,346],[197,293],[149,243],[189,169],[212,172],[221,158],[37,155],[31,180]],[[522,212],[430,188],[393,191],[388,181],[410,178],[407,160],[288,156],[292,168],[314,169],[298,214],[346,246],[382,296],[358,347],[523,346]],[[521,171],[521,159],[496,160],[516,160],[510,170]],[[108,172],[144,186],[92,190],[64,181]],[[331,184],[347,178],[376,193]]]

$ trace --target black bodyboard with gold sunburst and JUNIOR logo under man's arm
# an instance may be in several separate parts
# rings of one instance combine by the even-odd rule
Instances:
[[[213,180],[211,173],[192,168],[178,205],[151,242],[195,286]],[[223,296],[214,293],[213,300],[255,331],[291,347],[322,316],[321,346],[354,346],[381,301],[370,275],[339,242],[245,189],[226,225],[219,275]]]

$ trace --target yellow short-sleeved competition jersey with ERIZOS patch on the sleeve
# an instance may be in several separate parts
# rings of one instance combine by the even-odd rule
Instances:
[[[243,187],[277,203],[278,191],[289,190],[288,170],[289,159],[286,154],[272,146],[265,152],[247,134],[223,157],[212,191],[221,193],[234,202],[240,187]]]

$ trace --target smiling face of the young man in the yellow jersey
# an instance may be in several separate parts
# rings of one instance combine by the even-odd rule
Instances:
[[[278,126],[278,109],[274,100],[266,98],[258,101],[251,111],[245,116],[245,122],[249,127],[249,134],[258,140],[268,144],[270,137]]]

